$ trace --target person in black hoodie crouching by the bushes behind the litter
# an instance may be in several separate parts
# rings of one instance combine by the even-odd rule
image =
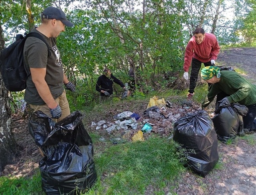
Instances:
[[[105,68],[103,74],[98,77],[96,82],[96,91],[100,93],[99,102],[105,101],[113,94],[113,82],[120,85],[124,90],[127,90],[124,84],[111,74],[110,69]]]

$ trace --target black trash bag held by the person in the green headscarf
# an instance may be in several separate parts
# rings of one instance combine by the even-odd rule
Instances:
[[[216,108],[219,106],[216,104]],[[238,103],[231,103],[230,106],[220,106],[219,113],[212,118],[217,138],[226,143],[229,139],[242,135],[243,119],[248,112],[248,108]]]

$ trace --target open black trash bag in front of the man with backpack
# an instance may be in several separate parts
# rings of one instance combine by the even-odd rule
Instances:
[[[39,168],[46,194],[79,194],[96,181],[92,140],[81,119],[79,111],[58,123],[41,111],[29,119],[29,132],[45,155]]]

